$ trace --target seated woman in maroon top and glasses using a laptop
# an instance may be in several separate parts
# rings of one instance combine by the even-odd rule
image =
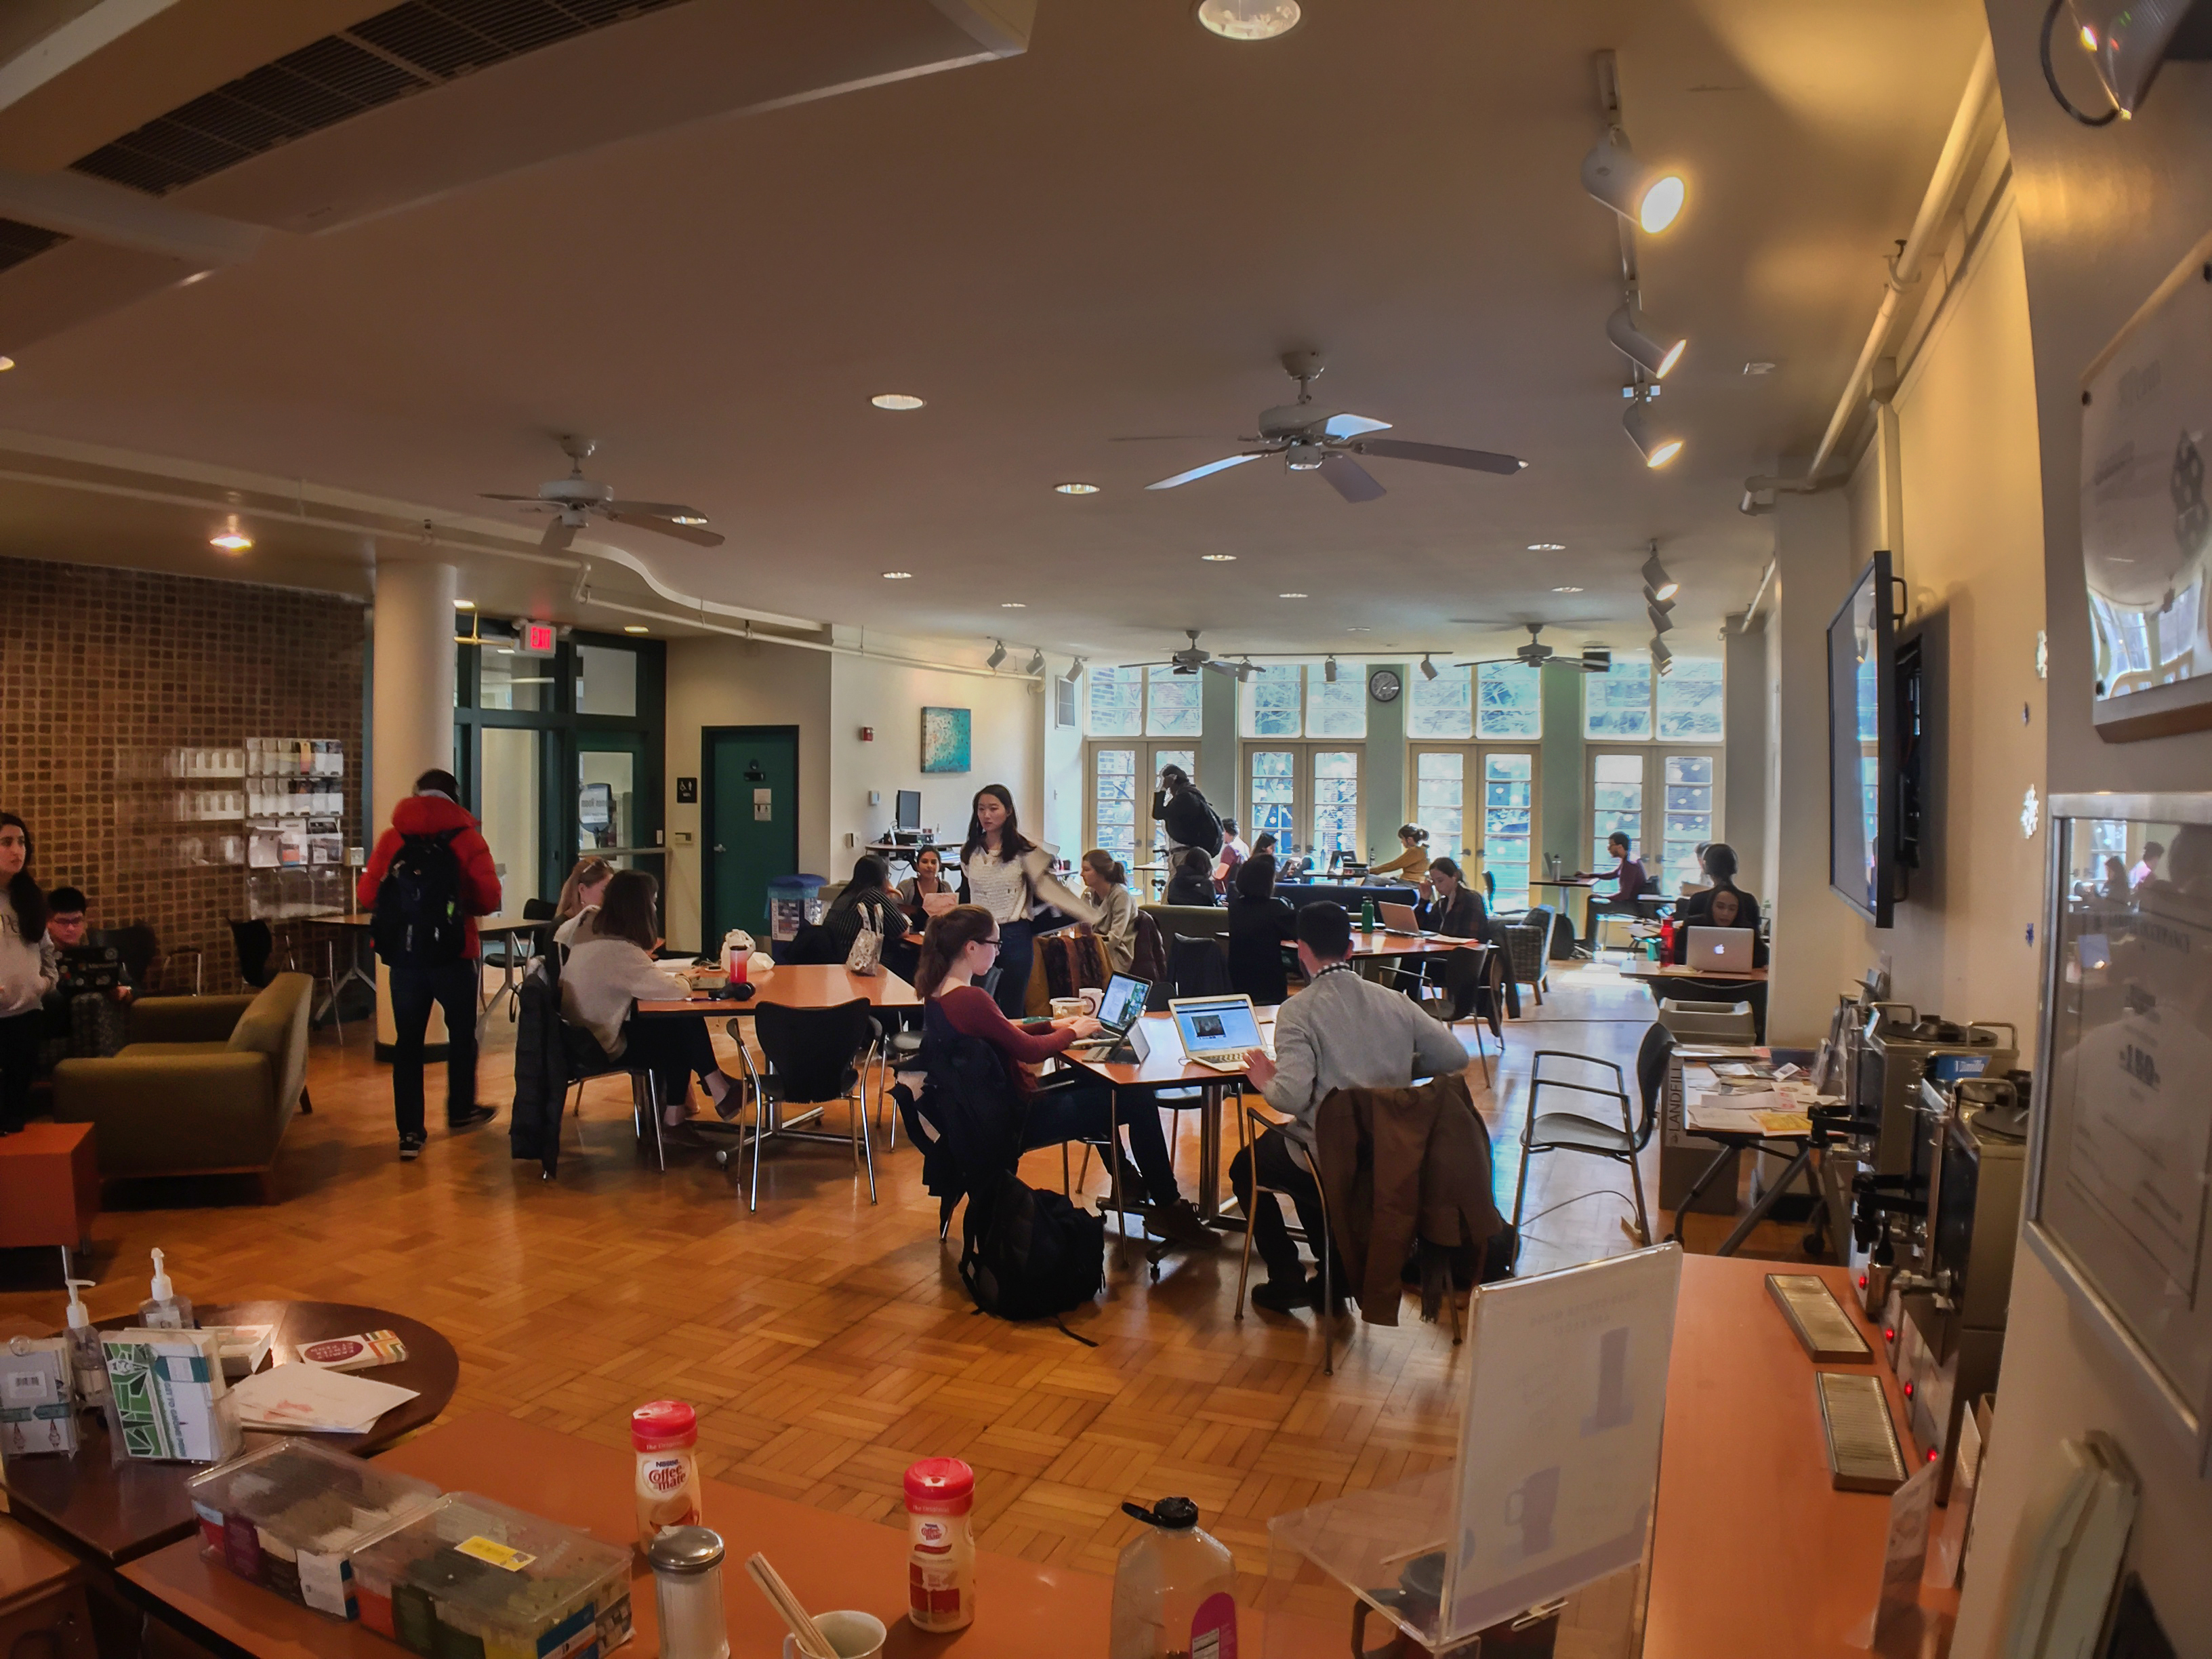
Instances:
[[[1203,858],[1206,854],[1199,854]],[[998,1048],[1000,1064],[1013,1086],[1029,1099],[1026,1144],[1051,1146],[1064,1139],[1104,1139],[1113,1121],[1113,1091],[1102,1082],[1079,1082],[1064,1088],[1037,1088],[1031,1066],[1066,1051],[1071,1042],[1099,1033],[1099,1022],[1091,1015],[1062,1020],[1026,1020],[1013,1024],[1000,1013],[998,1002],[978,980],[998,960],[998,922],[982,905],[960,905],[931,918],[922,933],[922,964],[916,971],[914,989],[922,993],[922,1024],[927,1042],[945,1042],[949,1031],[962,1037],[978,1037]],[[1121,1121],[1128,1130],[1130,1152],[1137,1157],[1137,1181],[1152,1208],[1146,1212],[1150,1228],[1183,1245],[1210,1248],[1214,1232],[1199,1221],[1199,1212],[1175,1186],[1175,1159],[1168,1152],[1168,1137],[1159,1128],[1159,1110],[1150,1104],[1133,1104],[1135,1110]],[[1115,1148],[1121,1157],[1121,1148]],[[1124,1177],[1124,1192],[1128,1177]]]

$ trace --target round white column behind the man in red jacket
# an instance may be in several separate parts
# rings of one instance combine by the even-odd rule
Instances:
[[[380,560],[376,566],[369,803],[378,834],[414,781],[453,765],[453,595],[451,564]],[[392,1042],[392,993],[376,969],[376,1042]],[[445,1042],[431,1011],[429,1042]]]

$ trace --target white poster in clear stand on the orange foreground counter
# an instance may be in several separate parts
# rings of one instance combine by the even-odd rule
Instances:
[[[1641,1559],[1679,1285],[1659,1245],[1475,1294],[1447,1641]]]

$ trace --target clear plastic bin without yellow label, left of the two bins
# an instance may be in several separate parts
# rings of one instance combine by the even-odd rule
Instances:
[[[279,1440],[186,1482],[201,1555],[334,1619],[356,1617],[354,1551],[438,1502],[427,1480]]]

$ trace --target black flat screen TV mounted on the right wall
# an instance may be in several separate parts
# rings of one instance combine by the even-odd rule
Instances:
[[[1898,619],[1876,553],[1827,624],[1827,885],[1876,927],[1898,900]]]

